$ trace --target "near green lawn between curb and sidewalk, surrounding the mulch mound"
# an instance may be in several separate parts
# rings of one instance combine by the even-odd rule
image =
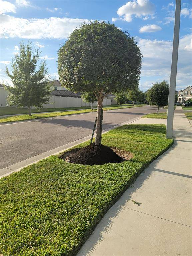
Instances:
[[[132,124],[103,134],[104,145],[134,155],[119,164],[85,166],[50,156],[0,179],[0,253],[76,255],[119,196],[172,145],[165,131]]]

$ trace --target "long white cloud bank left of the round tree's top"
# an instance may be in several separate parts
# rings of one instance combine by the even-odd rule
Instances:
[[[0,37],[20,37],[27,39],[63,39],[87,19],[50,17],[44,19],[23,19],[1,15]]]

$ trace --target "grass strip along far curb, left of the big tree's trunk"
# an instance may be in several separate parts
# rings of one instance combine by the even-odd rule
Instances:
[[[95,109],[93,109],[93,110],[84,109],[84,110],[77,110],[77,111],[50,112],[50,113],[33,114],[32,116],[29,116],[29,115],[7,116],[7,117],[0,118],[0,123],[24,121],[24,120],[30,120],[30,119],[55,117],[55,116],[66,116],[66,115],[74,115],[74,114],[89,113],[89,112],[96,112],[96,110]]]

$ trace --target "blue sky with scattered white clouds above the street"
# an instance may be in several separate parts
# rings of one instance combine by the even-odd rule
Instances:
[[[192,1],[182,0],[176,89],[192,85]],[[0,83],[21,40],[39,47],[52,80],[59,79],[57,56],[70,33],[83,22],[104,20],[128,31],[143,55],[140,89],[170,81],[175,1],[2,1],[0,0]]]

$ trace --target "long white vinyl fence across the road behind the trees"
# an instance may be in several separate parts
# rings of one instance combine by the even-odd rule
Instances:
[[[111,105],[111,99],[103,99],[103,106]],[[97,106],[97,102],[93,103]],[[51,96],[43,108],[70,108],[70,107],[91,107],[91,103],[84,102],[82,98]],[[35,107],[32,107],[35,108]]]

